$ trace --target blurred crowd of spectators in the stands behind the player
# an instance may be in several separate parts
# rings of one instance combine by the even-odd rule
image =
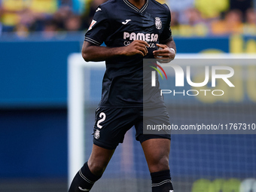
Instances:
[[[24,38],[29,32],[43,32],[44,37],[53,38],[56,32],[86,30],[96,8],[106,1],[0,0],[0,35],[2,31],[15,32]],[[173,35],[256,35],[256,14],[252,9],[256,0],[157,1],[169,5]]]

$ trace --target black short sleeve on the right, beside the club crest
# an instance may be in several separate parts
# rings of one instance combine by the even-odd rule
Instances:
[[[167,14],[167,23],[163,28],[163,32],[160,34],[160,44],[165,44],[166,42],[172,39],[172,30],[171,30],[171,11],[169,11],[168,6],[166,5],[166,14]]]

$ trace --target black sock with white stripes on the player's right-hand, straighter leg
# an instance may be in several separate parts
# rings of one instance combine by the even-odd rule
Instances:
[[[152,172],[152,192],[172,192],[171,175],[168,170],[161,172]]]

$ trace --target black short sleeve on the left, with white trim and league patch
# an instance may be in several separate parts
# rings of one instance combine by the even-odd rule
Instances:
[[[107,38],[109,31],[108,17],[105,11],[99,6],[96,9],[96,13],[93,16],[92,23],[87,30],[84,41],[89,41],[90,43],[101,45]]]

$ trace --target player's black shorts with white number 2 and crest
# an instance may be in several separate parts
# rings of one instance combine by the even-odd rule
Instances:
[[[143,108],[97,108],[93,144],[102,148],[114,149],[123,142],[126,131],[130,130],[132,126],[136,128],[136,140],[141,143],[148,139],[171,139],[169,133],[143,134],[143,125],[153,123],[170,124],[166,107],[151,108],[146,112],[143,111]]]

